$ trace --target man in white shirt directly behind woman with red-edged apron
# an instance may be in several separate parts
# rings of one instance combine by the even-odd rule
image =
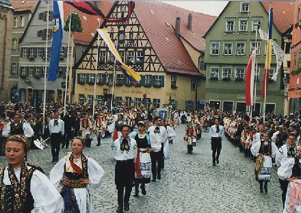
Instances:
[[[150,153],[150,158],[152,160],[152,181],[155,182],[156,179],[161,179],[161,168],[163,166],[163,150],[161,149],[163,143],[167,140],[167,131],[165,127],[161,126],[162,118],[156,116],[155,125],[148,128],[148,133],[150,136],[150,145],[154,148],[154,151]]]

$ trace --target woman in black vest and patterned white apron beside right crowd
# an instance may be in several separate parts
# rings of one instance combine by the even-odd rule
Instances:
[[[258,156],[255,163],[255,178],[259,181],[260,192],[264,189],[267,192],[267,182],[271,181],[272,158],[276,157],[277,147],[269,140],[269,134],[263,134],[263,140],[257,142],[251,147],[252,155]]]

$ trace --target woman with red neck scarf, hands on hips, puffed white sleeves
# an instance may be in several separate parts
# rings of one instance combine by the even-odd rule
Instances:
[[[64,185],[61,191],[64,212],[92,212],[90,188],[99,186],[105,174],[95,160],[83,155],[83,147],[83,138],[73,138],[72,153],[57,162],[50,172],[50,180],[55,187]]]

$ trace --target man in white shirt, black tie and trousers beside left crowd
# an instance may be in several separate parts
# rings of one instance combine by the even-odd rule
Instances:
[[[55,112],[54,118],[49,121],[48,125],[51,141],[51,162],[57,162],[59,160],[60,145],[64,137],[64,121],[60,119],[59,116],[59,112]]]

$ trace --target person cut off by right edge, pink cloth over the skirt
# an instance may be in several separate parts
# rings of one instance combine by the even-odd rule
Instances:
[[[298,146],[298,155],[294,158],[286,158],[278,168],[278,177],[288,181],[287,194],[283,212],[301,212],[301,147]]]

